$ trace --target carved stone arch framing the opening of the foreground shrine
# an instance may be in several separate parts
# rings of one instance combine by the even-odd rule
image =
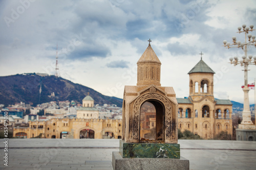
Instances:
[[[133,139],[139,141],[139,124],[140,124],[140,107],[142,104],[148,100],[156,100],[157,102],[163,104],[164,108],[164,124],[166,125],[166,129],[163,129],[164,131],[164,140],[167,142],[167,140],[175,139],[175,129],[176,124],[172,124],[172,119],[174,118],[176,120],[175,115],[173,114],[173,107],[172,102],[166,98],[166,96],[156,93],[156,92],[147,92],[139,96],[139,98],[135,101],[134,107],[133,107]],[[174,113],[175,114],[175,113]],[[174,133],[174,134],[172,134]],[[172,136],[174,136],[172,138]]]

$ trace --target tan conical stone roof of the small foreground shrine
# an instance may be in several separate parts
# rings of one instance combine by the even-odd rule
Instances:
[[[154,52],[153,48],[150,44],[148,44],[148,47],[146,48],[145,52],[140,57],[139,63],[145,63],[145,62],[151,62],[151,63],[158,63],[161,64],[160,60],[158,59],[156,53]]]

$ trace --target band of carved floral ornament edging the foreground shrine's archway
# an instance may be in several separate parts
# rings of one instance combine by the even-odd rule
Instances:
[[[150,90],[151,91],[151,90]],[[154,90],[152,90],[154,91]],[[160,103],[164,104],[165,112],[166,112],[166,139],[171,139],[171,130],[172,130],[172,103],[167,99],[164,95],[159,93],[145,93],[142,94],[135,102],[134,104],[134,120],[133,120],[133,138],[138,139],[139,138],[139,112],[140,112],[140,106],[142,103],[144,103],[146,100],[149,99],[155,99],[159,101]]]

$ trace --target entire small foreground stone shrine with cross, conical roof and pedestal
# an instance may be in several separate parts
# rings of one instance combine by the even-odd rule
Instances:
[[[161,62],[150,43],[137,66],[137,86],[124,87],[122,139],[113,168],[189,169],[189,161],[180,157],[176,94],[173,87],[161,86]],[[155,114],[143,114],[146,105]]]

